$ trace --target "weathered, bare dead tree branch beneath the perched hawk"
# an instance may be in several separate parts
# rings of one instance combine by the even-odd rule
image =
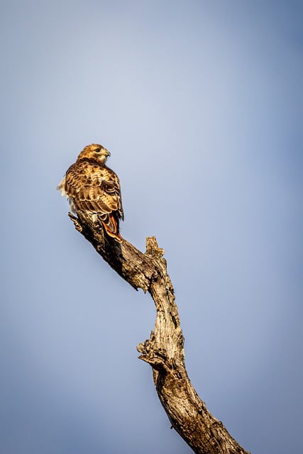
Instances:
[[[69,214],[77,231],[135,289],[149,292],[157,315],[150,338],[137,347],[139,358],[153,368],[158,397],[172,427],[197,454],[248,454],[216,419],[195,392],[184,363],[184,338],[167,274],[164,251],[155,237],[147,238],[143,254],[131,243],[116,242],[84,213]]]

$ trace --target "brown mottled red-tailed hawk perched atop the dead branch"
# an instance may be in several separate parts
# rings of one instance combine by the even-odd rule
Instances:
[[[57,189],[67,196],[70,209],[84,211],[101,223],[107,235],[121,242],[119,220],[124,219],[119,178],[105,165],[111,153],[102,145],[87,145],[67,170]]]

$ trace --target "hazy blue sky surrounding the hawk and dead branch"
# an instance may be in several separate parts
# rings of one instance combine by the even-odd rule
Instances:
[[[186,454],[150,367],[153,301],[55,191],[111,151],[122,234],[165,249],[189,377],[252,453],[302,448],[301,1],[1,6],[0,443]]]

